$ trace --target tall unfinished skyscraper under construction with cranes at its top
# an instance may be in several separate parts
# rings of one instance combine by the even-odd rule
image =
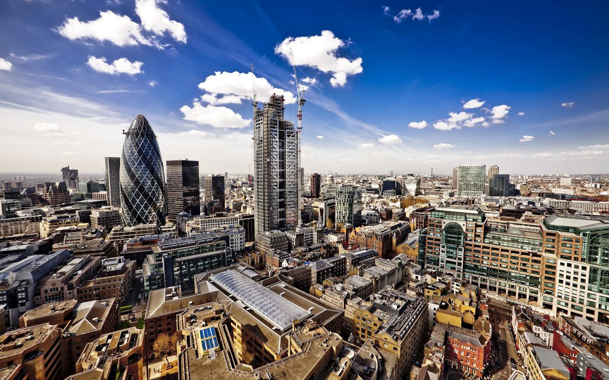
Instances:
[[[270,230],[298,227],[300,133],[284,119],[284,98],[273,94],[254,108],[256,240]]]

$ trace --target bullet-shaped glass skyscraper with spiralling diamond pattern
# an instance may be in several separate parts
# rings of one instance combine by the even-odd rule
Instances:
[[[125,226],[165,224],[165,173],[157,136],[144,115],[133,119],[121,155],[121,208]]]

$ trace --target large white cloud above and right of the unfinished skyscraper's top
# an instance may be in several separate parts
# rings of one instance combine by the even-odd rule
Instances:
[[[333,87],[344,86],[348,75],[361,73],[362,58],[348,60],[339,57],[337,51],[345,42],[336,38],[330,30],[323,30],[321,35],[308,37],[288,37],[275,46],[275,54],[281,55],[293,65],[314,67],[319,71],[331,73],[330,84]]]

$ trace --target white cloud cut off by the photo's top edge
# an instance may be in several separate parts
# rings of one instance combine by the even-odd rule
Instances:
[[[167,0],[136,0],[135,13],[141,19],[142,27],[155,35],[169,33],[174,40],[186,43],[186,31],[180,22],[169,19],[167,12],[158,4],[167,4]]]

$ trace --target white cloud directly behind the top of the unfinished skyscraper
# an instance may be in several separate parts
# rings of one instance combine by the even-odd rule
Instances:
[[[209,75],[205,81],[199,83],[199,88],[211,94],[220,95],[237,95],[242,98],[252,98],[252,73],[247,72],[214,72],[214,75]],[[296,103],[296,98],[292,92],[274,88],[266,78],[258,78],[255,75],[254,88],[259,100],[264,102],[270,98],[270,95],[283,95],[286,104]],[[233,102],[234,103],[234,102]],[[241,102],[239,102],[241,103]]]

